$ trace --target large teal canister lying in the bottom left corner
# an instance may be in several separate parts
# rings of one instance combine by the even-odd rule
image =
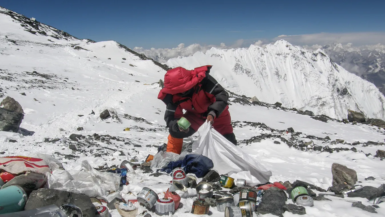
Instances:
[[[27,193],[20,186],[0,189],[0,214],[23,211],[27,199]]]

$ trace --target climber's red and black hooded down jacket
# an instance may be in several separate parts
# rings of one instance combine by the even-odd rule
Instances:
[[[218,128],[221,128],[219,125],[226,125],[223,129],[217,129],[219,133],[233,133],[228,93],[209,75],[211,67],[201,66],[194,70],[176,67],[166,72],[164,88],[159,92],[158,99],[167,105],[164,115],[167,127],[177,128],[176,122],[183,116],[196,131],[210,113],[216,118],[214,125],[218,125]],[[181,94],[186,91],[186,94]],[[186,110],[185,114],[183,109]]]

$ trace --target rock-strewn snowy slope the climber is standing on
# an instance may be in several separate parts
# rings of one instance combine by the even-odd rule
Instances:
[[[81,161],[87,160],[92,167],[105,169],[133,156],[144,160],[167,141],[168,130],[163,119],[166,108],[157,99],[159,85],[152,84],[164,77],[165,66],[114,41],[93,43],[70,35],[58,34],[56,39],[32,34],[21,26],[29,19],[15,20],[8,13],[0,8],[0,100],[6,96],[16,99],[25,116],[19,133],[0,132],[0,156],[44,157],[63,163],[66,170],[79,170]],[[50,27],[39,25],[49,32]],[[55,32],[53,29],[49,34]],[[270,182],[293,183],[300,179],[326,189],[332,182],[331,164],[341,163],[357,171],[362,185],[378,187],[384,183],[384,161],[374,157],[378,149],[385,149],[383,128],[333,120],[322,122],[272,105],[239,103],[240,96],[230,95],[229,110],[239,147],[272,171]],[[99,114],[105,109],[109,109],[111,117],[102,120]],[[84,129],[77,131],[78,127]],[[126,127],[131,130],[123,131]],[[286,133],[289,127],[295,133]],[[72,134],[76,138],[70,137]],[[186,146],[197,138],[194,135],[186,139]],[[338,143],[335,139],[345,142]],[[308,145],[310,141],[313,143]],[[355,141],[360,144],[353,145]],[[170,186],[171,176],[153,177],[149,176],[152,172],[143,172],[138,169],[130,174],[130,184],[121,189],[124,198],[132,197],[130,191],[137,195],[143,187],[162,197]],[[365,180],[368,176],[376,180]],[[337,197],[326,197],[331,201],[315,201],[314,207],[306,207],[307,214],[303,216],[385,215],[384,203],[378,204],[378,214],[372,214]],[[365,198],[352,199],[372,204]],[[195,216],[189,213],[193,198],[181,202],[183,207],[174,217]],[[143,209],[139,207],[139,212]],[[216,208],[211,207],[210,211],[211,217],[223,217]],[[111,214],[120,216],[117,210]],[[285,212],[284,216],[293,214]]]

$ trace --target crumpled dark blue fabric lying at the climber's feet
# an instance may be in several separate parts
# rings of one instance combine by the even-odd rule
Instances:
[[[214,167],[213,161],[203,155],[189,154],[184,160],[172,161],[167,167],[161,169],[161,172],[171,173],[177,167],[182,167],[186,173],[194,173],[196,177],[201,178]]]

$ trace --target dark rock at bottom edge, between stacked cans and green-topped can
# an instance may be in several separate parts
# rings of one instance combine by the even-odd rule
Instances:
[[[276,187],[270,187],[263,194],[263,200],[259,203],[257,212],[263,215],[270,213],[283,217],[283,212],[285,212],[283,207],[285,206],[286,200],[287,195],[283,190]]]

